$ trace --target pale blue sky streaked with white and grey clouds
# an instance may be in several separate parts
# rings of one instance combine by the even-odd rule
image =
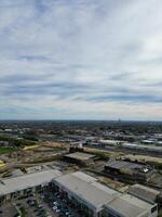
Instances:
[[[161,0],[0,0],[0,119],[162,120]]]

